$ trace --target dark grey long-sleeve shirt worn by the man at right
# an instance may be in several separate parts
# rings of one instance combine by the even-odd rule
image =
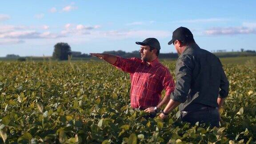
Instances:
[[[227,97],[228,87],[219,58],[192,44],[176,62],[176,88],[171,99],[181,102],[181,111],[194,111],[202,106],[218,107],[217,98]]]

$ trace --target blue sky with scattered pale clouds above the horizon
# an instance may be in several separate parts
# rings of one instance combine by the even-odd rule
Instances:
[[[180,26],[210,52],[256,50],[256,0],[1,0],[0,56],[52,56],[58,42],[132,52],[148,37],[176,52],[168,41]]]

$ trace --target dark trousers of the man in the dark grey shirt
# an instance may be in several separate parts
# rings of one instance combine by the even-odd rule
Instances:
[[[210,124],[211,128],[220,127],[220,113],[217,108],[204,108],[204,110],[194,112],[181,111],[181,120],[191,124]]]

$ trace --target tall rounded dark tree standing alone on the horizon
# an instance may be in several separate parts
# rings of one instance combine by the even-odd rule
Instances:
[[[68,43],[57,43],[54,45],[52,57],[58,60],[68,60],[68,55],[71,55],[71,48]]]

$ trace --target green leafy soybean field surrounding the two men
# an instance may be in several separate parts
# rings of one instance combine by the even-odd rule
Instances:
[[[161,61],[175,78],[175,63]],[[130,77],[101,61],[0,61],[0,143],[256,143],[256,64],[223,64],[230,92],[220,128],[144,119]],[[164,92],[163,95],[164,96]]]

